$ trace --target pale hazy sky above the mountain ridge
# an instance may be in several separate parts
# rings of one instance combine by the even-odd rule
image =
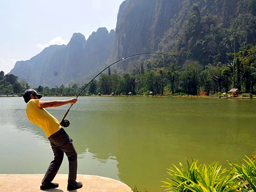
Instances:
[[[123,0],[0,0],[0,71],[49,45],[67,44],[73,33],[115,29]]]

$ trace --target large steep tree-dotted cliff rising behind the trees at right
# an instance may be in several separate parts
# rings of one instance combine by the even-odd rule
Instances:
[[[118,12],[113,58],[172,50],[207,64],[214,59],[202,60],[198,53],[225,39],[231,45],[232,35],[237,47],[255,44],[255,9],[254,0],[126,0]],[[198,42],[204,45],[196,46]]]

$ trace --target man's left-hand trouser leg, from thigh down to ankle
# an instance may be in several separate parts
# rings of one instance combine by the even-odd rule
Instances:
[[[52,151],[54,154],[54,160],[50,163],[46,175],[44,177],[44,179],[42,179],[42,184],[47,185],[49,183],[52,182],[52,180],[54,179],[54,177],[56,176],[59,167],[61,165],[61,162],[63,160],[63,156],[64,153],[62,152],[62,150],[60,148],[56,148],[54,146],[52,146]]]

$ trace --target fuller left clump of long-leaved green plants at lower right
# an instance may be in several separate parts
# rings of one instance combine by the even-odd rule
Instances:
[[[222,192],[234,191],[229,184],[233,182],[234,176],[230,171],[222,169],[218,162],[212,164],[197,165],[198,160],[187,161],[186,168],[180,163],[180,167],[173,165],[168,170],[170,178],[163,181],[166,191],[177,192]]]

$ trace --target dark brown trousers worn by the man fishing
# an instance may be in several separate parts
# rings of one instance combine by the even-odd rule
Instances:
[[[72,143],[73,140],[70,139],[68,134],[62,128],[56,133],[52,134],[48,139],[51,142],[54,160],[50,163],[46,175],[44,179],[42,179],[42,184],[48,184],[52,182],[59,170],[65,153],[69,160],[68,186],[75,185],[77,172],[77,153]]]

